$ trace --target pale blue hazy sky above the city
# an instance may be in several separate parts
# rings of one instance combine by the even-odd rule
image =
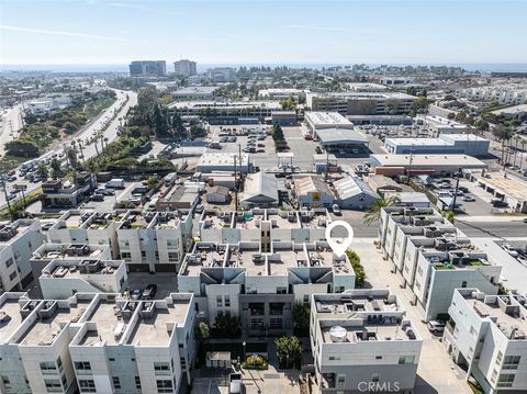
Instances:
[[[527,63],[527,0],[0,0],[9,64]]]

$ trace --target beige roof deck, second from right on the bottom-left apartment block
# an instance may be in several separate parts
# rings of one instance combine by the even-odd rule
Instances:
[[[116,345],[121,338],[115,333],[123,333],[128,323],[123,317],[117,317],[117,305],[115,302],[108,302],[101,300],[97,307],[93,308],[91,315],[86,319],[97,324],[96,330],[88,330],[82,339],[80,346],[103,346]]]

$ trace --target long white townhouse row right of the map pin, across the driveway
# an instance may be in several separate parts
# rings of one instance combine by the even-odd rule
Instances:
[[[497,293],[502,267],[434,209],[383,209],[379,239],[425,320],[445,315],[458,288]]]

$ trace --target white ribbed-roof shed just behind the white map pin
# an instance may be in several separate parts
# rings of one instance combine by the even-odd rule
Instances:
[[[381,196],[361,179],[346,177],[333,183],[335,202],[346,210],[366,210]]]

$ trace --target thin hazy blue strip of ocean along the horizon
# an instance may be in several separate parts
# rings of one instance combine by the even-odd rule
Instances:
[[[152,59],[134,59],[134,60],[156,60]],[[159,59],[157,59],[159,60]],[[162,59],[160,59],[162,60]],[[192,59],[190,59],[192,60]],[[131,60],[132,61],[132,60]],[[173,72],[171,64],[177,60],[167,61],[167,75]],[[15,71],[51,71],[51,72],[128,72],[128,64],[2,64],[0,65],[0,72],[15,72]],[[312,68],[322,69],[323,67],[345,67],[354,65],[366,65],[372,68],[380,66],[435,66],[435,67],[460,67],[467,71],[481,72],[527,72],[527,63],[198,63],[198,71],[203,72],[214,67],[290,67],[290,68]]]

